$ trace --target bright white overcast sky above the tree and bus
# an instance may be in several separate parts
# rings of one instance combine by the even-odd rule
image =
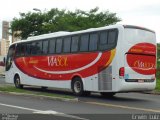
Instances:
[[[2,21],[12,21],[14,17],[19,17],[20,12],[36,12],[34,8],[41,11],[51,8],[89,11],[99,7],[100,11],[117,13],[117,17],[122,20],[118,24],[136,25],[154,30],[157,42],[160,42],[160,0],[1,0],[0,2],[0,38]]]

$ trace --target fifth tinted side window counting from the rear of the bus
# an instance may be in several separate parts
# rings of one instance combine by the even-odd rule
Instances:
[[[71,52],[78,51],[78,36],[72,37]]]

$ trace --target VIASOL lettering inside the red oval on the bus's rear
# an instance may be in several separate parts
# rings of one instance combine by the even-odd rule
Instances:
[[[155,68],[155,65],[151,62],[136,60],[134,62],[134,67],[147,69],[147,68]]]

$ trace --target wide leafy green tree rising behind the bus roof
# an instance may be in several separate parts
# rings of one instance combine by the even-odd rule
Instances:
[[[48,12],[20,13],[20,18],[11,22],[11,32],[14,36],[26,39],[29,36],[57,31],[77,31],[116,24],[121,21],[116,13],[99,12],[99,8],[86,12],[83,10],[67,11],[57,8]],[[21,31],[17,32],[16,31]]]

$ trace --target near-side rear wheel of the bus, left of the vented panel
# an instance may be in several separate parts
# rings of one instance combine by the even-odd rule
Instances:
[[[79,77],[74,78],[71,87],[75,95],[82,96],[84,94],[83,83],[81,78]]]

